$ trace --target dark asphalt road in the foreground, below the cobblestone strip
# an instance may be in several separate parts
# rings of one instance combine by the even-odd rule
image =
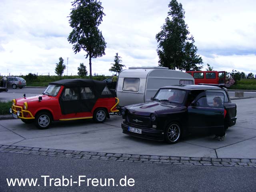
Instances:
[[[170,164],[145,164],[84,160],[26,154],[0,153],[0,191],[180,191],[180,192],[252,192],[256,189],[256,169],[243,167],[186,166]],[[52,186],[49,179],[44,186],[44,178],[67,178],[78,181],[79,176],[100,180],[113,178],[112,186],[92,186],[82,182],[81,186]],[[120,186],[120,179],[134,179],[134,186]],[[6,178],[38,178],[36,186],[8,186]],[[123,180],[122,180],[123,181]],[[131,181],[131,180],[130,180]],[[38,186],[38,184],[40,186]],[[89,186],[87,186],[89,184]],[[96,183],[95,183],[96,184]],[[116,186],[118,184],[118,186]],[[122,182],[124,184],[124,181]],[[132,184],[132,183],[130,183]],[[127,185],[127,183],[126,183]]]

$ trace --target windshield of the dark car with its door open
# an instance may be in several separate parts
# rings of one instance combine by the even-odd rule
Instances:
[[[177,89],[160,89],[154,100],[183,103],[186,91]]]

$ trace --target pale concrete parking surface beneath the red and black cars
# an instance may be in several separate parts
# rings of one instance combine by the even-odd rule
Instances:
[[[122,133],[121,116],[111,117],[103,124],[90,120],[54,122],[47,130],[21,120],[0,121],[0,145],[47,148],[105,154],[129,154],[191,158],[256,159],[256,98],[234,100],[238,105],[235,126],[227,130],[224,141],[212,136],[190,136],[169,145],[133,138]],[[122,156],[122,155],[121,155]],[[181,160],[181,158],[180,158]],[[242,163],[242,162],[241,162]],[[252,164],[253,165],[253,164]]]

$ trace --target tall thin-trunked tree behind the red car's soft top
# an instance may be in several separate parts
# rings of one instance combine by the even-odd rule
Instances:
[[[101,2],[97,0],[75,0],[72,6],[69,24],[73,30],[68,41],[73,44],[75,54],[81,50],[86,52],[92,78],[92,58],[105,55],[106,42],[98,29],[105,14]]]

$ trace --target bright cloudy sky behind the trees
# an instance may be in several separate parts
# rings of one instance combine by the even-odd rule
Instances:
[[[156,34],[170,0],[101,0],[106,16],[100,30],[106,55],[92,60],[92,74],[111,75],[114,56],[130,66],[158,66]],[[178,0],[204,67],[256,74],[255,0]],[[86,52],[74,54],[67,37],[70,0],[0,0],[0,75],[54,75],[58,58],[77,74],[89,70]]]

